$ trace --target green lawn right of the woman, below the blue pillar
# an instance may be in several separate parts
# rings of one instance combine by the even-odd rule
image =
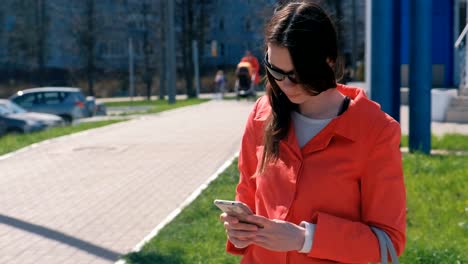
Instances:
[[[466,156],[405,155],[407,245],[402,263],[468,263]]]

